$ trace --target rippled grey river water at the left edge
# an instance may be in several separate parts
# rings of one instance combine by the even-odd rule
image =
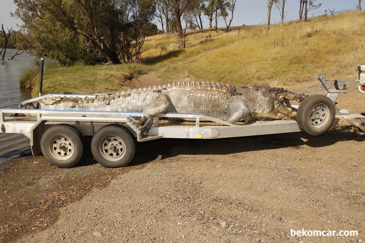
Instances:
[[[41,61],[41,57],[35,57],[28,53],[17,55],[14,59],[15,49],[7,49],[4,65],[0,64],[0,108],[16,108],[23,100],[31,98],[30,89],[20,88],[19,79],[24,71],[32,65],[33,60]],[[45,69],[54,66],[57,62],[45,58]],[[6,161],[19,157],[30,149],[30,141],[23,134],[0,133],[0,170],[6,165]]]

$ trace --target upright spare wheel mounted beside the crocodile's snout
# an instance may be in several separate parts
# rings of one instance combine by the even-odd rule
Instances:
[[[311,95],[300,103],[297,123],[301,131],[319,136],[332,126],[335,113],[331,99],[324,95]]]

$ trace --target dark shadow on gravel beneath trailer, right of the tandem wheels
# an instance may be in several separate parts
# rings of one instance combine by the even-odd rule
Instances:
[[[129,166],[141,165],[177,155],[224,155],[248,151],[271,150],[307,145],[313,148],[330,146],[337,142],[354,140],[362,142],[349,130],[331,130],[322,136],[309,136],[303,132],[273,134],[225,139],[158,139],[138,144],[134,161]]]

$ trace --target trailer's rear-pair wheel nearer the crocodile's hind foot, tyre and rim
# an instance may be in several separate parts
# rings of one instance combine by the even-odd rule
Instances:
[[[92,137],[91,152],[97,162],[104,167],[126,166],[134,158],[134,136],[123,126],[107,125],[101,127]]]

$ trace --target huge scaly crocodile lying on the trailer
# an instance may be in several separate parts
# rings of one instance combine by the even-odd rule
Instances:
[[[230,123],[257,118],[285,119],[295,116],[296,112],[287,107],[284,101],[300,102],[304,97],[283,88],[268,86],[237,87],[211,82],[179,82],[91,97],[51,95],[19,105],[18,108],[139,111],[143,112],[141,119],[130,119],[142,132],[148,132],[153,118],[165,112],[200,113]]]

